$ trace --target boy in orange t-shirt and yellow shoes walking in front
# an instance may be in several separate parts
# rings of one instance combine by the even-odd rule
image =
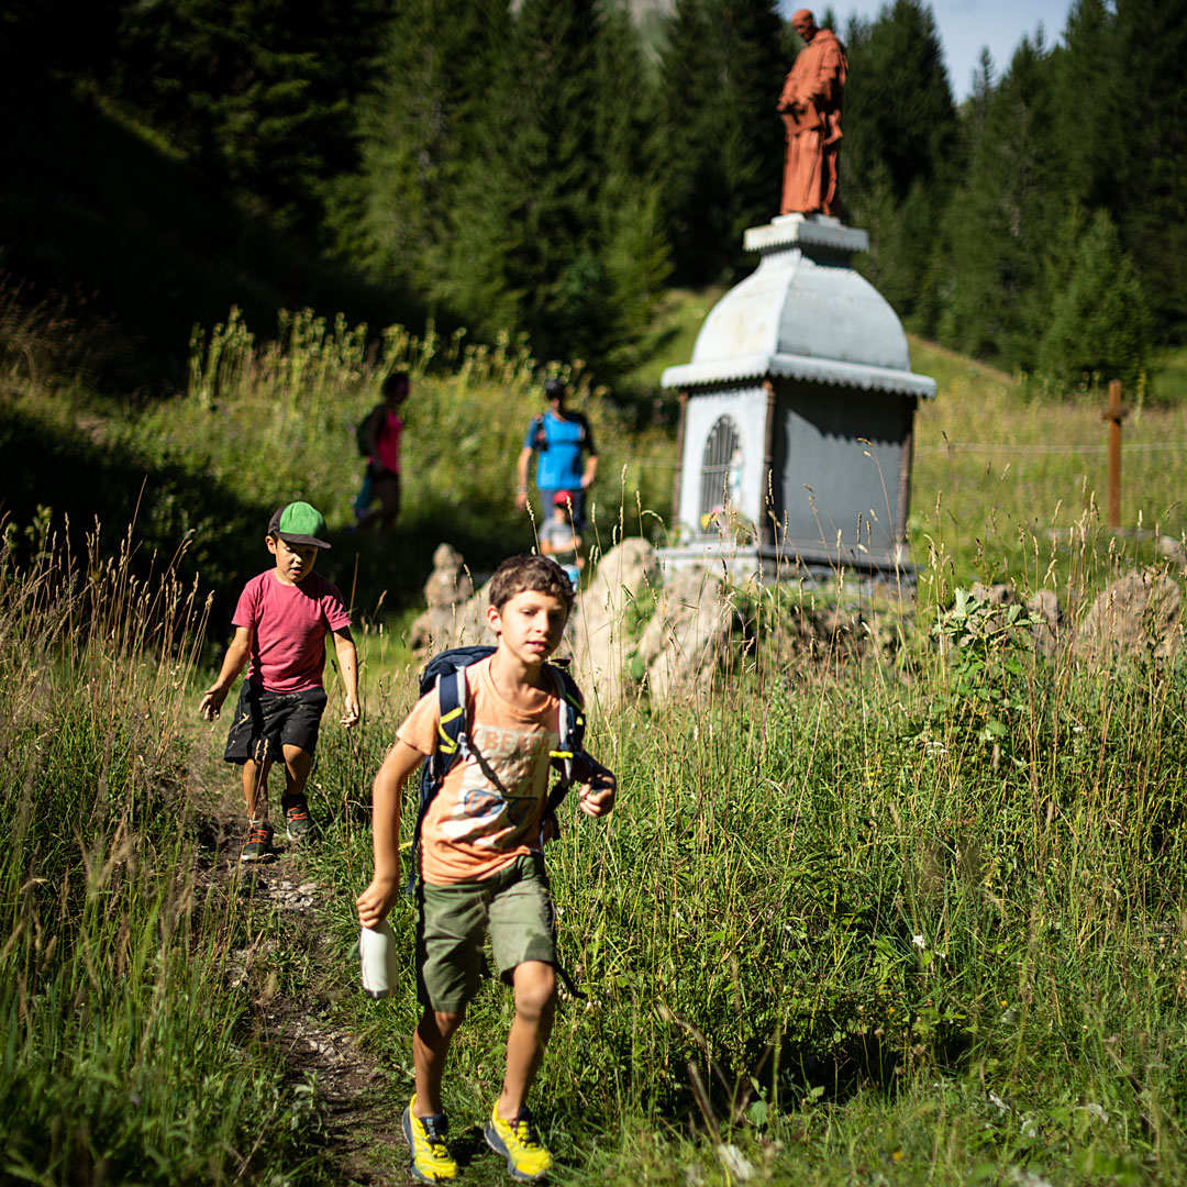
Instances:
[[[542,1179],[552,1164],[527,1094],[552,1030],[557,989],[541,821],[563,690],[544,664],[560,642],[571,608],[572,590],[556,561],[513,557],[500,565],[487,609],[499,646],[465,669],[470,754],[446,774],[423,824],[417,990],[424,1013],[413,1036],[417,1087],[404,1113],[404,1135],[412,1173],[424,1182],[457,1175],[445,1144],[442,1077],[450,1039],[478,985],[487,932],[502,979],[515,994],[502,1092],[485,1125],[487,1143],[522,1181]],[[434,751],[439,724],[439,698],[431,691],[396,731],[375,776],[375,876],[357,901],[364,927],[379,923],[399,894],[400,792]],[[614,775],[590,764],[584,779],[582,811],[605,815],[614,807]]]

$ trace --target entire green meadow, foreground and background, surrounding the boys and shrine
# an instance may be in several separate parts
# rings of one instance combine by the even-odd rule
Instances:
[[[0,461],[26,464],[0,558],[0,1181],[405,1183],[368,1126],[411,1092],[411,906],[394,998],[363,999],[349,956],[368,787],[415,696],[401,635],[433,546],[482,570],[531,544],[510,502],[532,361],[513,338],[230,317],[176,394],[116,401],[66,330],[4,309]],[[1052,590],[1077,621],[1119,571],[1181,582],[1156,541],[1187,531],[1187,405],[1126,396],[1113,533],[1103,395],[1056,401],[925,342],[913,364],[940,385],[916,421],[916,596],[738,589],[710,683],[592,715],[621,793],[609,821],[563,807],[550,846],[586,995],[534,1096],[558,1183],[1182,1179],[1187,669],[1046,658],[1026,611],[967,591]],[[414,481],[394,539],[339,533],[325,558],[358,610],[366,717],[331,724],[328,672],[320,842],[279,863],[318,888],[297,927],[229,861],[237,838],[218,848],[237,793],[198,691],[273,507],[349,522],[351,425],[395,366]],[[598,437],[597,546],[662,539],[674,426],[564,374]],[[850,634],[796,639],[838,603]],[[376,1068],[350,1170],[280,1003]],[[509,1010],[484,986],[453,1048],[466,1182],[504,1181],[476,1126]]]

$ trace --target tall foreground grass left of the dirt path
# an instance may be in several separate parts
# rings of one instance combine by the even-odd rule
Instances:
[[[202,607],[166,571],[0,554],[0,1180],[310,1178],[300,1097],[228,988],[179,715]]]

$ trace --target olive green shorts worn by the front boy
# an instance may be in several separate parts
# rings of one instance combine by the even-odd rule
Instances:
[[[509,985],[526,960],[557,963],[556,918],[544,853],[516,857],[480,882],[430,886],[417,894],[417,996],[442,1014],[461,1014],[478,989],[482,940]]]

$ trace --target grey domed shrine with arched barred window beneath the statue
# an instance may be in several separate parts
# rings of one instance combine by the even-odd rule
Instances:
[[[864,230],[791,214],[745,233],[757,269],[710,311],[680,393],[678,542],[667,565],[907,566],[912,430],[935,381],[851,265]]]

